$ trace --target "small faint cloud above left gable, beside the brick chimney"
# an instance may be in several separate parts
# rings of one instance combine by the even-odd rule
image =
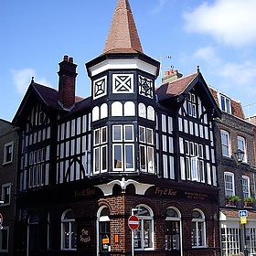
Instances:
[[[37,71],[35,69],[12,69],[12,75],[16,91],[19,94],[24,94],[24,92],[27,91],[32,77],[36,78],[35,81],[37,83],[51,87],[50,83],[45,78],[37,78]]]

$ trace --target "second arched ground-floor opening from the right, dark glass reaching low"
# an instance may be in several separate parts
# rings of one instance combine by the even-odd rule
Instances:
[[[182,255],[181,214],[177,208],[167,208],[165,216],[165,251]]]

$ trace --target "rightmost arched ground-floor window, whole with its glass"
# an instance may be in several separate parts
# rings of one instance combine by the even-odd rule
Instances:
[[[206,221],[204,213],[199,209],[192,212],[192,247],[206,246]]]

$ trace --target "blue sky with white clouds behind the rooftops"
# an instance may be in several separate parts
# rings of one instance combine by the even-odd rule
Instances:
[[[91,94],[84,64],[98,57],[117,0],[0,1],[0,118],[11,121],[31,77],[58,88],[64,55],[78,64],[77,95]],[[255,0],[130,0],[144,53],[256,114]],[[167,57],[171,57],[168,59]],[[160,79],[157,80],[159,85]]]

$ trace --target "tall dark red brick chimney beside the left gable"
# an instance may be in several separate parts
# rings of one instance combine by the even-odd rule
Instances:
[[[75,103],[77,65],[73,58],[65,55],[59,63],[59,103],[69,109]]]

